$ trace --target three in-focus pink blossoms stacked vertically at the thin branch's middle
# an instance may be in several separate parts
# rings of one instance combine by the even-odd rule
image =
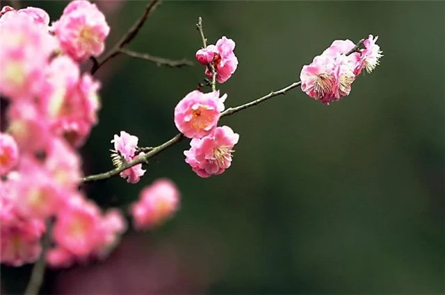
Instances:
[[[198,50],[196,58],[206,66],[206,76],[216,75],[219,83],[227,81],[238,66],[234,48],[235,42],[224,36],[216,45]],[[193,90],[175,107],[176,127],[191,138],[191,149],[184,151],[186,163],[203,178],[222,174],[232,164],[233,147],[239,135],[229,126],[218,127],[226,99],[227,94],[220,97],[219,90],[209,93]]]

